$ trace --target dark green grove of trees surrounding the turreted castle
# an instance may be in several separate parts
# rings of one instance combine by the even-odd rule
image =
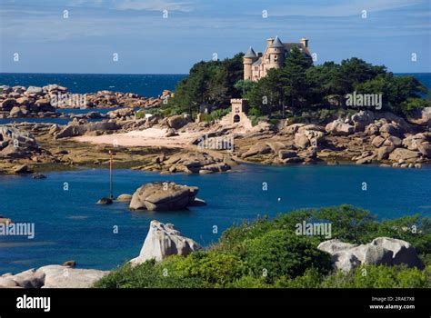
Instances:
[[[175,97],[162,107],[163,112],[195,114],[200,105],[226,109],[231,98],[243,97],[249,101],[249,113],[255,118],[287,117],[295,121],[302,114],[346,110],[346,94],[354,92],[382,94],[382,109],[372,109],[404,116],[431,103],[422,98],[426,88],[413,76],[395,76],[383,65],[371,65],[356,57],[340,64],[315,66],[297,47],[282,68],[269,70],[258,82],[244,81],[243,77],[243,54],[224,61],[199,62],[176,86]]]

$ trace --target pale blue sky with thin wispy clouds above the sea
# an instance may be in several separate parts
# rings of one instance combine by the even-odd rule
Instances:
[[[185,74],[215,53],[223,59],[245,52],[249,45],[262,51],[266,38],[276,35],[284,42],[307,37],[317,64],[357,56],[396,73],[431,72],[430,0],[0,4],[0,72]],[[366,19],[361,17],[363,10]],[[118,62],[113,61],[115,53]],[[411,60],[413,53],[416,62]]]

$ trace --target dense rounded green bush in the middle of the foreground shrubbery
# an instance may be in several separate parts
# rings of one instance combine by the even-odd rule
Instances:
[[[320,273],[332,268],[328,253],[317,250],[309,238],[286,230],[271,231],[246,242],[243,257],[252,272],[268,282],[281,276],[294,278],[308,268]]]

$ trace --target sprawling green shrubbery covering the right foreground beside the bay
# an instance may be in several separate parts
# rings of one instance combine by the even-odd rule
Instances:
[[[317,250],[323,236],[295,234],[296,224],[330,222],[332,237],[369,243],[388,236],[416,247],[425,270],[405,266],[362,266],[334,272],[329,254]],[[95,284],[101,288],[316,288],[431,287],[431,220],[420,215],[379,222],[350,205],[306,209],[266,217],[227,229],[208,251],[165,261],[119,267]]]

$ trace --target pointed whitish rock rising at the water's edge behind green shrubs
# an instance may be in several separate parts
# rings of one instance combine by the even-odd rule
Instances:
[[[169,255],[185,256],[200,249],[198,243],[175,230],[173,224],[152,221],[139,256],[130,263],[136,265],[151,259],[160,262]]]

